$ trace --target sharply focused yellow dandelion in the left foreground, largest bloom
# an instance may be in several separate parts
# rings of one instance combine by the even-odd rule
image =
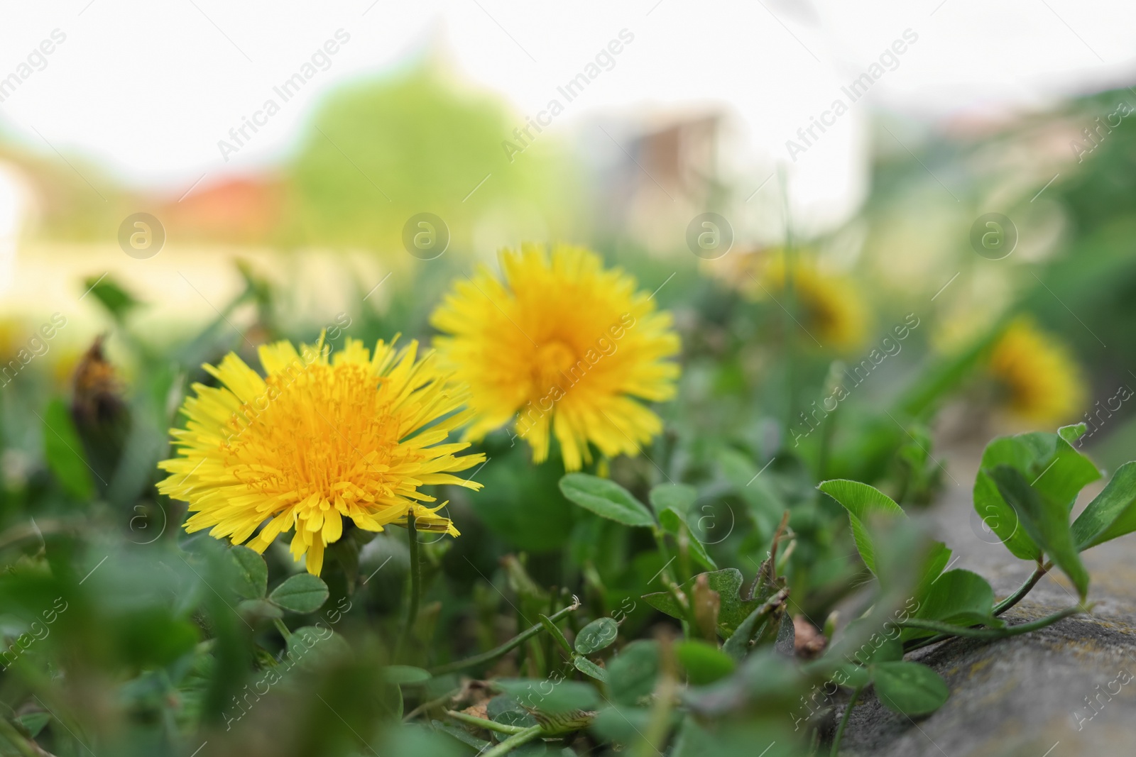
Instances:
[[[186,531],[210,528],[217,538],[257,552],[295,528],[292,555],[307,555],[319,574],[324,548],[343,535],[343,519],[368,531],[406,525],[458,536],[434,497],[419,490],[433,483],[470,489],[479,483],[452,476],[485,460],[456,456],[468,443],[449,443],[450,431],[469,421],[458,411],[465,397],[418,343],[396,351],[382,340],[374,356],[348,339],[329,358],[319,343],[289,342],[260,347],[266,376],[229,353],[216,368],[204,365],[223,386],[193,386],[182,412],[186,428],[173,429],[179,456],[159,463],[170,476],[158,485],[194,513]]]

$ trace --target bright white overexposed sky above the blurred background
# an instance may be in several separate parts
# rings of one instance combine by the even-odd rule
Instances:
[[[918,42],[900,66],[791,167],[837,202],[862,191],[872,109],[938,119],[1043,107],[1128,83],[1136,57],[1136,6],[1109,0],[68,0],[7,2],[0,14],[0,78],[53,30],[67,35],[0,103],[0,129],[167,187],[279,159],[328,87],[434,45],[535,115],[626,28],[635,39],[616,67],[552,128],[725,106],[742,126],[740,170],[765,175],[787,159],[785,141],[910,28]],[[339,28],[351,39],[331,68],[224,162],[217,141]]]

